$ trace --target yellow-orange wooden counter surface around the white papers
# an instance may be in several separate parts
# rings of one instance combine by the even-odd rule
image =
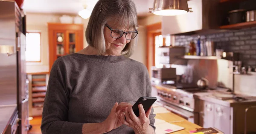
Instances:
[[[173,132],[171,134],[190,134],[189,131],[196,130],[196,128],[202,128],[201,126],[198,126],[194,123],[189,122],[188,120],[185,120],[184,118],[169,112],[169,113],[159,113],[156,114],[157,119],[165,120],[166,122],[173,122],[173,121],[180,121],[183,120],[183,122],[177,122],[177,123],[172,123],[177,126],[184,127],[185,129]]]

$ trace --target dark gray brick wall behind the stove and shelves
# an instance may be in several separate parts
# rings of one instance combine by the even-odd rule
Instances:
[[[196,43],[197,39],[197,35],[175,36],[175,45],[188,46],[190,41]],[[243,65],[256,68],[256,27],[201,35],[201,39],[213,41],[215,49],[221,48],[225,52],[239,52]]]

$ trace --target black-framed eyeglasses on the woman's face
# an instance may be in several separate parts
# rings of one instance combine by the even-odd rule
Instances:
[[[131,39],[134,39],[137,35],[138,35],[138,31],[137,29],[135,29],[135,31],[128,31],[128,32],[125,32],[125,31],[122,31],[122,30],[119,30],[119,29],[112,29],[109,25],[105,24],[105,26],[111,31],[111,34],[110,36],[114,39],[118,39],[118,38],[121,38],[124,33],[125,33],[125,38],[127,40],[131,40]]]

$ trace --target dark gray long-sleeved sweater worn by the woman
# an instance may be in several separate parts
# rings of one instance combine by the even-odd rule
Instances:
[[[41,130],[43,134],[81,134],[83,123],[104,121],[115,102],[132,105],[151,96],[147,68],[124,56],[79,53],[58,58],[51,69]],[[153,111],[150,125],[154,126]],[[122,125],[109,134],[132,134]]]

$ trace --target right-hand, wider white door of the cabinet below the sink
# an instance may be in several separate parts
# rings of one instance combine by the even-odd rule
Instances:
[[[230,107],[215,104],[214,108],[214,127],[224,134],[230,134]]]

